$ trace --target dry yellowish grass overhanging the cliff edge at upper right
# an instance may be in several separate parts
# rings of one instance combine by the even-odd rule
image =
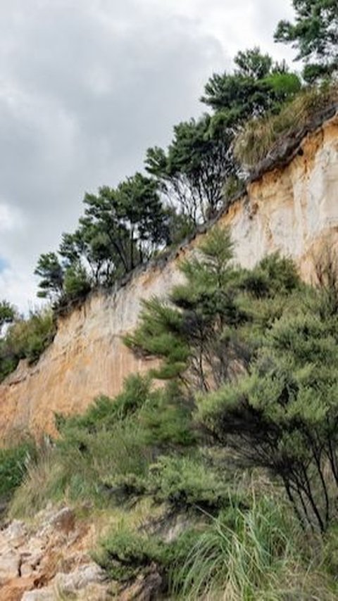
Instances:
[[[263,159],[278,155],[287,141],[299,137],[306,127],[338,104],[338,85],[323,84],[301,91],[277,115],[249,121],[237,136],[234,153],[248,170]]]

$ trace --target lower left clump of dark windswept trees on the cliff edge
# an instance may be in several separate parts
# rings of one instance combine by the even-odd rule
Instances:
[[[75,232],[63,234],[58,253],[39,258],[39,296],[71,300],[110,286],[170,243],[173,222],[155,179],[140,173],[115,189],[103,186],[99,194],[86,194]]]

